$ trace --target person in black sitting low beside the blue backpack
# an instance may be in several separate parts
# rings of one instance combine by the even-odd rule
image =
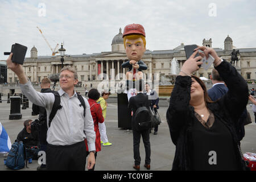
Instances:
[[[22,141],[26,147],[28,159],[38,159],[38,150],[40,146],[38,131],[31,130],[31,119],[24,121],[24,128],[18,134],[17,140]]]

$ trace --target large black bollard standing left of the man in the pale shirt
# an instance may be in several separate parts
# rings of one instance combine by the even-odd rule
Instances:
[[[22,114],[20,114],[20,97],[19,96],[13,96],[10,98],[11,100],[11,110],[9,119],[15,120],[15,119],[21,119]]]

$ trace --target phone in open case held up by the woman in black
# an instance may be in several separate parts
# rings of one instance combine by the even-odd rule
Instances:
[[[193,52],[195,52],[195,48],[197,48],[196,44],[184,46],[187,59],[192,55]],[[197,56],[199,56],[199,53],[197,53],[195,57]],[[214,58],[212,57],[212,55],[209,54],[208,59],[204,56],[204,58],[199,61],[203,62],[203,64],[199,65],[199,68],[204,68],[205,70],[207,70],[210,68],[210,65],[213,64]]]

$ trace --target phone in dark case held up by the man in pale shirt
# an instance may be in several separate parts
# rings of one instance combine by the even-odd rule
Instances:
[[[13,63],[23,64],[27,52],[27,47],[15,43],[11,46],[11,52],[13,52],[13,57],[11,58]],[[4,52],[4,55],[10,55],[11,52]]]

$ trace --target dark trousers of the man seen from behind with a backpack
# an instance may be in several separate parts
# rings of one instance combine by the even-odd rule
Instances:
[[[139,154],[139,143],[141,143],[141,136],[143,139],[144,147],[145,147],[145,164],[150,164],[150,129],[145,131],[135,131],[133,130],[133,156],[134,156],[134,164],[141,164],[141,155]]]

